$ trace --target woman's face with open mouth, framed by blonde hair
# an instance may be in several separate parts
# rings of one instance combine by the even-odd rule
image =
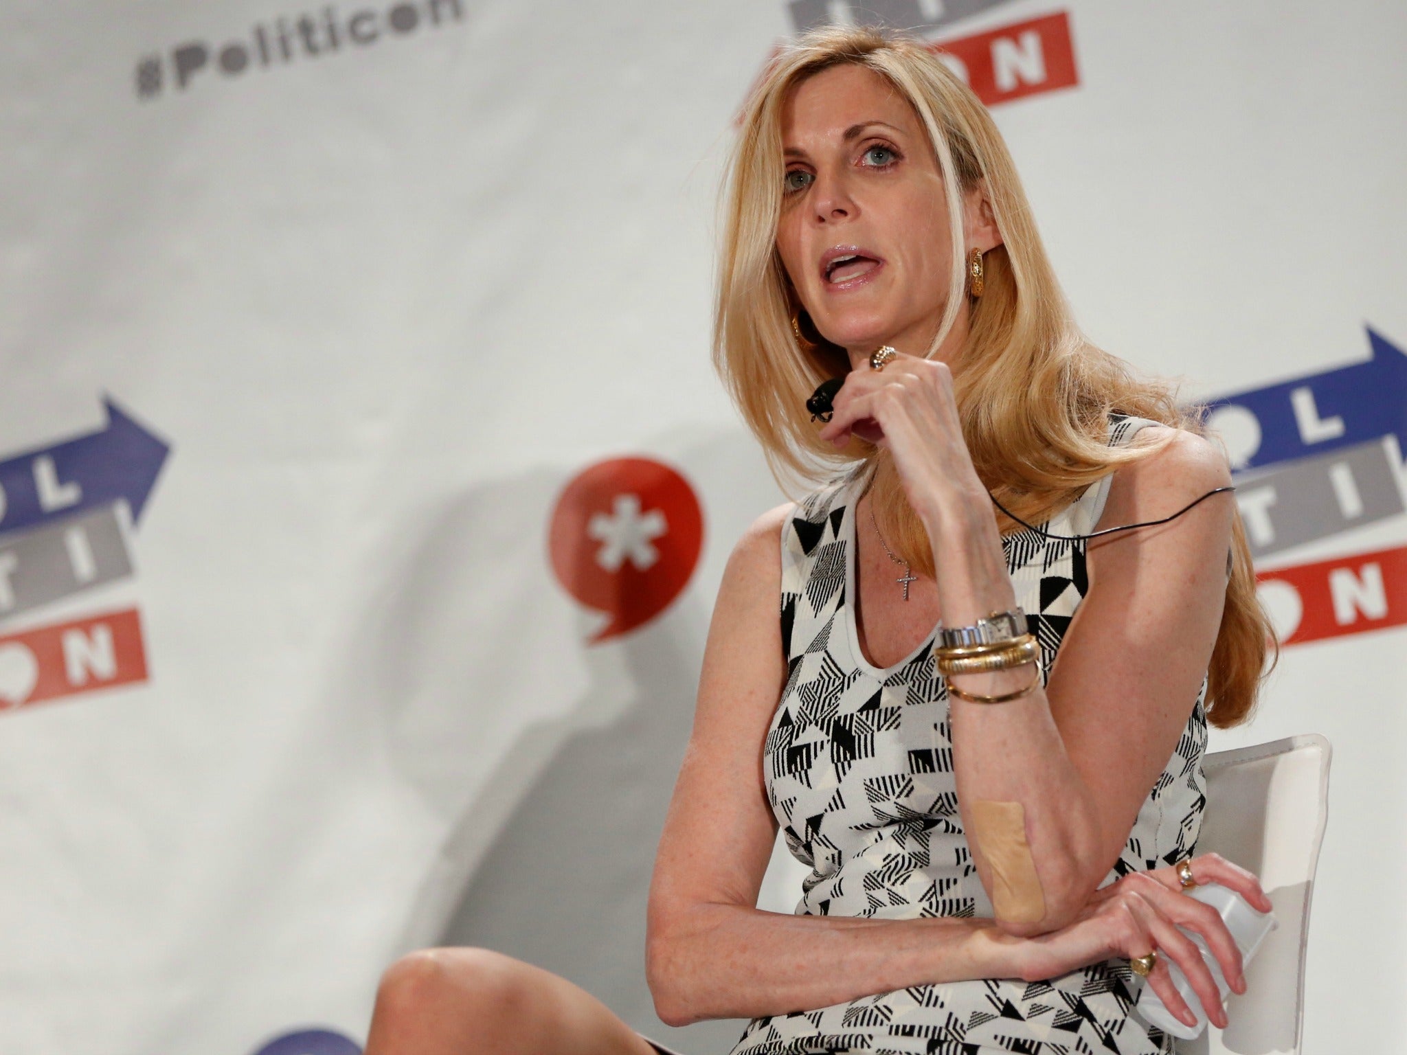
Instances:
[[[851,364],[881,345],[923,354],[950,281],[947,194],[909,101],[857,65],[816,73],[782,106],[787,176],[777,249],[816,329]],[[964,203],[982,250],[1000,242],[979,191]],[[953,338],[967,329],[967,305]],[[940,350],[941,359],[948,356]]]

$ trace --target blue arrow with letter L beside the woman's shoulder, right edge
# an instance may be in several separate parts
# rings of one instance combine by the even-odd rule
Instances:
[[[1407,437],[1407,354],[1366,326],[1373,357],[1366,363],[1306,374],[1207,404],[1242,407],[1261,425],[1261,446],[1238,468],[1351,447],[1393,433]]]

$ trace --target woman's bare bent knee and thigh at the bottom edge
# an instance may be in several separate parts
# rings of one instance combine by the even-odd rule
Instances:
[[[412,952],[381,979],[366,1055],[656,1055],[564,978],[481,948]]]

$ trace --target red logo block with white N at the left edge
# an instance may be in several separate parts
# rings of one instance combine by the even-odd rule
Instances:
[[[135,608],[0,637],[0,710],[146,681]]]

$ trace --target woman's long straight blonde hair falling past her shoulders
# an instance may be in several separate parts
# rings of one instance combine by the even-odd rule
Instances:
[[[927,129],[943,173],[951,231],[962,231],[964,194],[985,183],[1002,245],[985,253],[985,291],[969,304],[968,336],[955,357],[954,392],[978,475],[1023,520],[1040,523],[1113,468],[1161,450],[1154,443],[1110,447],[1109,415],[1131,414],[1203,433],[1202,411],[1183,408],[1169,381],[1138,377],[1095,347],[1074,324],[1031,217],[1012,156],[971,89],[922,41],[872,28],[813,30],[779,52],[754,87],[740,121],[723,218],[713,319],[713,362],[784,487],[834,475],[871,474],[875,516],[892,547],[933,574],[929,537],[909,506],[886,452],[854,440],[834,452],[816,439],[803,409],[823,380],[850,369],[844,349],[799,342],[801,309],[777,252],[784,180],[781,111],[806,77],[841,63],[886,77]],[[951,245],[951,287],[933,354],[958,318],[965,290],[960,238]],[[1019,529],[998,516],[1003,533]],[[1255,705],[1266,654],[1278,644],[1255,595],[1255,573],[1240,513],[1233,518],[1233,568],[1209,668],[1209,719],[1244,722]],[[1273,664],[1272,664],[1273,665]]]

